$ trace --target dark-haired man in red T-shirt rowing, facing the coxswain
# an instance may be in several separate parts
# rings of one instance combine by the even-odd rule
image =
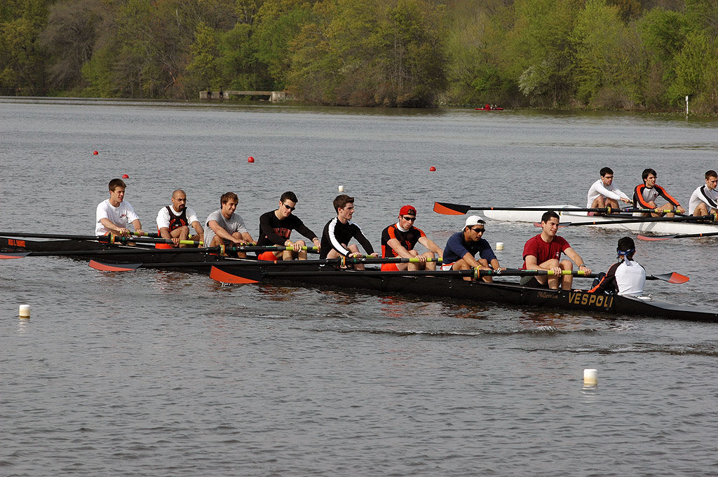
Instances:
[[[521,278],[521,285],[526,286],[548,286],[558,289],[559,285],[564,290],[571,290],[573,275],[561,275],[563,270],[574,270],[574,263],[579,266],[579,271],[586,274],[591,273],[584,260],[569,242],[556,235],[559,230],[559,214],[553,210],[544,212],[541,216],[541,233],[531,237],[523,245],[523,270],[551,270],[554,275],[535,275]],[[561,253],[567,255],[571,260],[560,260]],[[572,261],[573,260],[573,261]]]

